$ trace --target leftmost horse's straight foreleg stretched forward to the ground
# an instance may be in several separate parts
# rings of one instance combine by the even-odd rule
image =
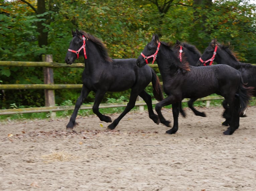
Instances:
[[[76,117],[80,106],[83,104],[84,99],[91,91],[83,85],[80,96],[78,97],[75,105],[75,109],[70,117],[69,123],[66,126],[66,131],[72,131],[73,127],[76,126]]]

